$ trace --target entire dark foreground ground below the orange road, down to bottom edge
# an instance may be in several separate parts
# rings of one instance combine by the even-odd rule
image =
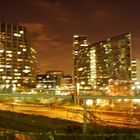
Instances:
[[[140,130],[0,111],[0,140],[140,140]]]

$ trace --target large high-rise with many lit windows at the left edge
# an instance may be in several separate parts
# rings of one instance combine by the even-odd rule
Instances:
[[[0,23],[0,88],[24,89],[35,85],[36,51],[26,28]]]

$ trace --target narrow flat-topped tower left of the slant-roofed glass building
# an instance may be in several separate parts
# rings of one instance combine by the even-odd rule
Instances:
[[[88,44],[87,37],[84,35],[74,35],[73,40],[73,59],[74,59],[74,70],[73,70],[73,83],[75,89],[77,90],[77,86],[79,84],[84,84],[87,82],[87,76],[84,72],[87,73],[88,63],[86,59],[88,59]]]

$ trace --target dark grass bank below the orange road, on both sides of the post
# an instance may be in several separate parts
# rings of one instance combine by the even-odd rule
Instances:
[[[58,118],[39,115],[27,115],[10,111],[0,111],[0,127],[20,132],[62,132],[82,133],[82,124]],[[92,124],[88,126],[88,133],[137,133],[138,129],[117,128]]]

